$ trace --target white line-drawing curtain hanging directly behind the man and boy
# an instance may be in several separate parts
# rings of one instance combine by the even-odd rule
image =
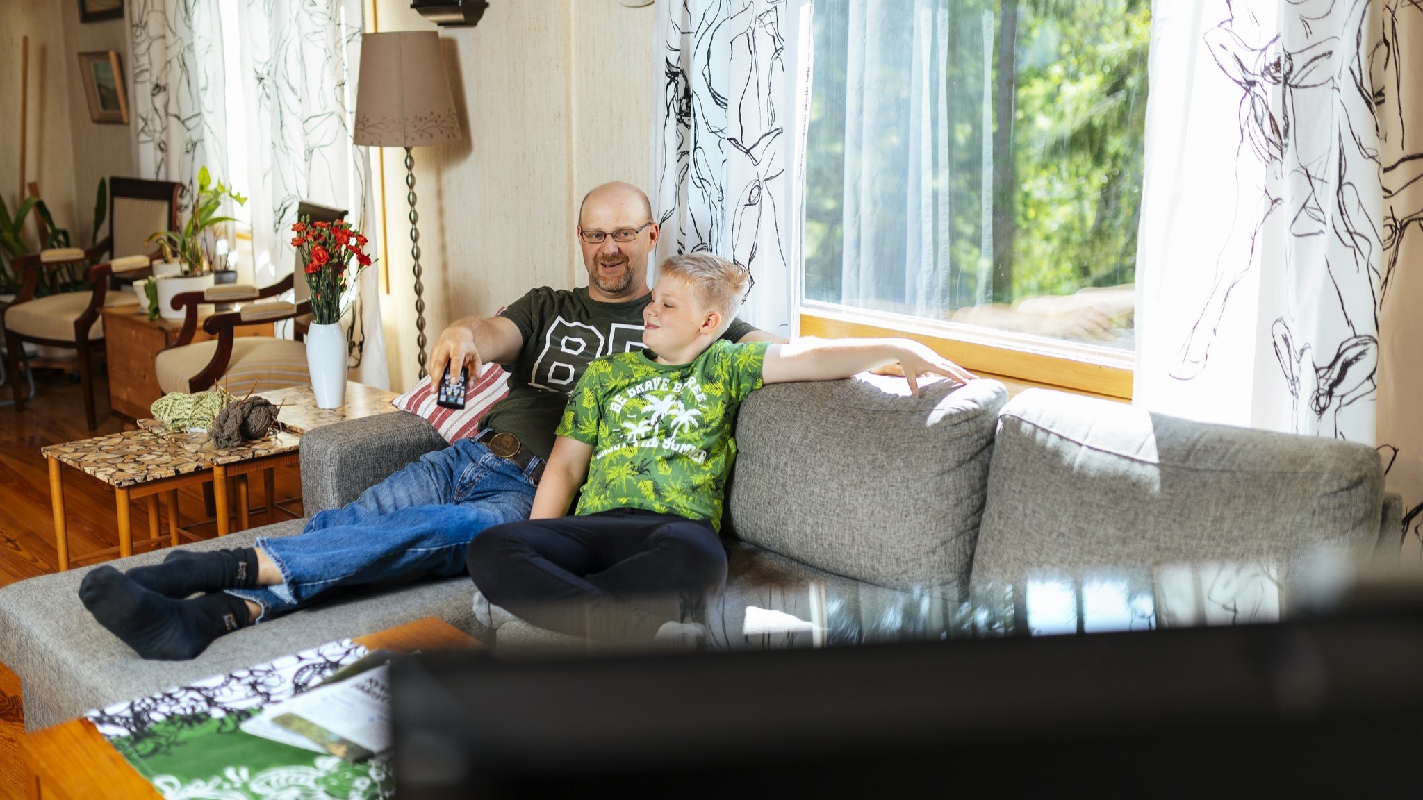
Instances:
[[[746,266],[741,319],[793,336],[810,3],[657,0],[656,14],[656,258],[707,251]]]

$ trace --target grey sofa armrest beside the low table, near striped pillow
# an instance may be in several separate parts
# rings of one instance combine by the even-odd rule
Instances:
[[[306,515],[340,508],[425,453],[448,443],[423,417],[393,411],[322,426],[302,436]]]

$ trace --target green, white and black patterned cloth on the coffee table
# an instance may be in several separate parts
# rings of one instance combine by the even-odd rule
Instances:
[[[269,663],[95,709],[84,715],[164,796],[223,800],[377,800],[394,796],[386,763],[359,764],[259,736],[239,726],[265,706],[305,692],[366,648],[330,642]]]

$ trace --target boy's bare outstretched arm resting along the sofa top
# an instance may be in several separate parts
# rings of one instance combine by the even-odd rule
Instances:
[[[942,374],[968,383],[976,376],[912,339],[794,339],[771,344],[761,366],[764,383],[834,380],[898,362],[919,393],[919,376]]]

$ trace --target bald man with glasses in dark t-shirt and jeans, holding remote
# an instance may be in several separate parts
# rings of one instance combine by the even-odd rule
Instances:
[[[603,184],[579,208],[588,286],[532,289],[494,317],[465,317],[430,352],[430,374],[488,362],[509,373],[508,397],[471,438],[428,453],[343,508],[322,511],[293,537],[206,552],[175,549],[127,574],[100,567],[80,598],[95,619],[148,659],[198,656],[218,636],[310,605],[332,589],[424,572],[465,572],[481,531],[527,520],[554,447],[568,391],[588,364],[642,347],[652,299],[647,259],[657,225],[647,195]],[[723,339],[784,342],[734,320]],[[208,592],[196,599],[186,599]]]

